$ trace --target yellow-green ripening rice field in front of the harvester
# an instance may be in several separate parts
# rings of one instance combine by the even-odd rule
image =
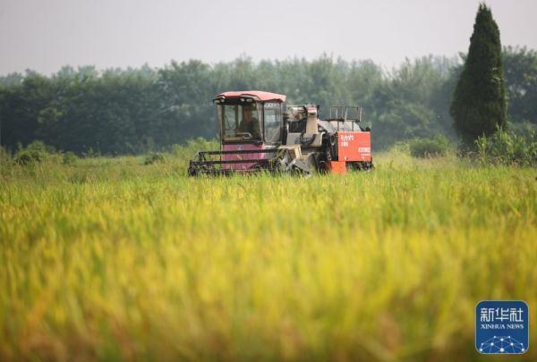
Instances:
[[[376,159],[305,179],[3,161],[0,359],[479,359],[478,301],[537,325],[535,169]]]

